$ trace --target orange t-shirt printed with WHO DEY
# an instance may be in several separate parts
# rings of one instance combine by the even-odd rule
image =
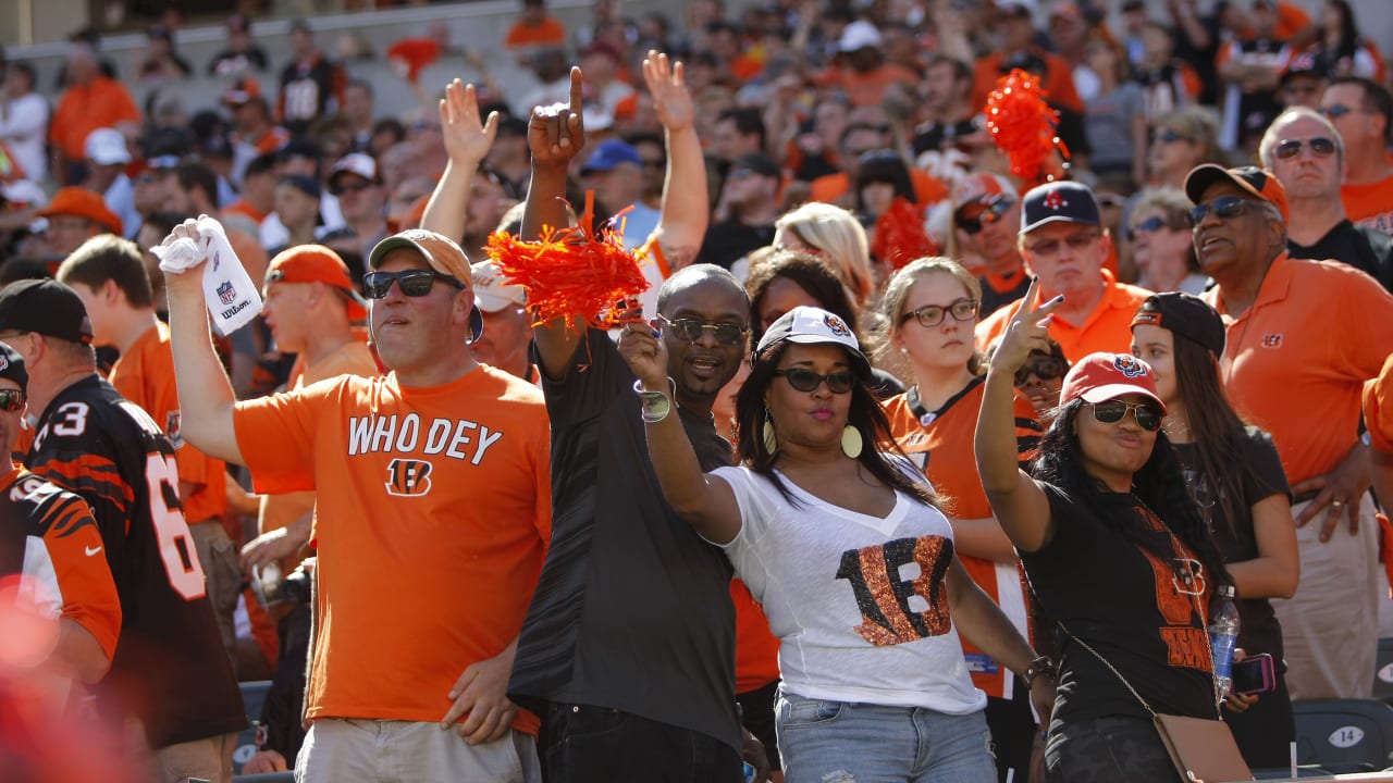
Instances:
[[[542,570],[542,393],[489,366],[425,389],[345,375],[233,421],[258,492],[325,489],[309,718],[440,720],[460,673],[517,638]]]

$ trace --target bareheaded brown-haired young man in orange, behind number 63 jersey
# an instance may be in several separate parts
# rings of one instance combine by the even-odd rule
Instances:
[[[82,244],[59,266],[57,279],[86,307],[93,344],[113,346],[121,358],[107,380],[123,397],[145,408],[174,444],[178,496],[194,549],[203,564],[208,599],[228,660],[237,667],[237,630],[233,614],[241,592],[237,545],[223,528],[227,510],[227,467],[189,446],[180,436],[181,412],[174,386],[174,357],[169,329],[155,315],[150,279],[141,248],[103,234]]]

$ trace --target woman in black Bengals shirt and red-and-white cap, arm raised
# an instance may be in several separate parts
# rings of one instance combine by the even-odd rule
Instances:
[[[1035,284],[1025,301],[1035,301]],[[986,372],[976,465],[1060,651],[1046,780],[1174,783],[1155,713],[1219,720],[1208,600],[1229,582],[1160,431],[1151,368],[1089,354],[1064,378],[1034,475],[1017,464],[1013,380],[1046,348],[1052,300],[1007,325]]]

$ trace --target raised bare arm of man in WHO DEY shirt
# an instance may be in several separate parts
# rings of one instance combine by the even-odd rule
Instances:
[[[181,238],[198,241],[198,222],[176,226],[164,245]],[[205,259],[206,262],[206,259]],[[174,379],[182,408],[181,433],[199,451],[227,463],[242,464],[233,426],[233,385],[213,351],[203,302],[203,263],[181,273],[166,273],[170,305],[170,347],[174,351]]]

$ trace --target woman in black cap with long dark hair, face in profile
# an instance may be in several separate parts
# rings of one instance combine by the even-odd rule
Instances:
[[[1223,346],[1219,313],[1188,294],[1148,297],[1133,319],[1133,354],[1156,373],[1166,437],[1233,577],[1238,646],[1248,656],[1269,653],[1275,663],[1276,690],[1256,704],[1238,697],[1236,706],[1244,712],[1224,720],[1248,766],[1280,768],[1295,723],[1283,677],[1282,626],[1268,599],[1295,594],[1301,559],[1277,450],[1268,433],[1238,418],[1219,385]]]

